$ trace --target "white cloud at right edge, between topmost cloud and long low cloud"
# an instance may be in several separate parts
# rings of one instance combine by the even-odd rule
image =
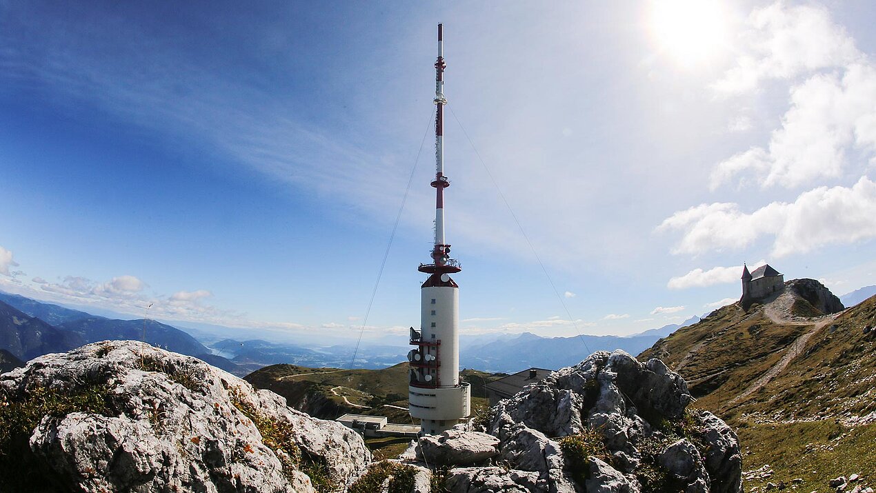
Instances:
[[[791,108],[767,148],[752,147],[719,163],[716,189],[748,172],[763,187],[797,187],[841,176],[847,150],[876,151],[876,69],[853,64],[842,77],[816,74],[791,88]],[[744,181],[742,182],[745,183]]]

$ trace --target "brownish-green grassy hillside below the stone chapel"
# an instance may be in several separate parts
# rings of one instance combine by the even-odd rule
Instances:
[[[700,396],[696,405],[738,431],[743,468],[769,464],[774,469],[769,478],[746,481],[746,490],[800,478],[797,489],[822,491],[828,479],[855,473],[874,485],[876,477],[868,475],[876,471],[876,423],[852,426],[852,418],[876,411],[876,333],[863,331],[876,324],[876,298],[832,324],[816,332],[788,368],[738,402],[732,399],[812,326],[774,324],[759,306],[749,313],[724,306],[639,358],[661,357],[672,368],[683,362],[679,372]]]

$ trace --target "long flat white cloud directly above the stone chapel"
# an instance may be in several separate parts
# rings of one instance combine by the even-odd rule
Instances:
[[[735,203],[701,204],[676,212],[658,230],[680,229],[674,253],[738,250],[774,236],[771,255],[805,253],[827,244],[876,237],[876,183],[861,177],[850,187],[818,187],[794,202],[773,202],[745,214]]]

